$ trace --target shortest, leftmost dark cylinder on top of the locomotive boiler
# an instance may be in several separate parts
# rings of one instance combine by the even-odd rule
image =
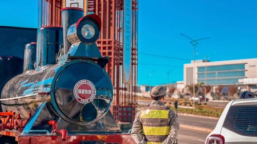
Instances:
[[[36,42],[25,45],[23,72],[35,69],[36,61]]]

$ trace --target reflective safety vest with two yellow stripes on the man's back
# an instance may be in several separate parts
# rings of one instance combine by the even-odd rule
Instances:
[[[169,107],[163,106],[161,110],[147,107],[141,110],[140,119],[147,144],[159,144],[169,135]]]

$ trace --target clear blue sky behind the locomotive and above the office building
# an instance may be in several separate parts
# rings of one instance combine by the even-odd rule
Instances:
[[[37,27],[38,1],[0,1],[0,25]],[[193,59],[190,40],[200,41],[196,59],[211,61],[256,58],[257,1],[139,1],[138,84],[183,80],[183,64]],[[140,54],[141,53],[141,54]],[[149,53],[188,60],[143,55]],[[168,73],[168,74],[167,74]]]

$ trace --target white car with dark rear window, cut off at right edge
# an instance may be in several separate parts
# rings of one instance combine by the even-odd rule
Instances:
[[[257,94],[244,92],[241,99],[230,101],[206,144],[257,143]]]

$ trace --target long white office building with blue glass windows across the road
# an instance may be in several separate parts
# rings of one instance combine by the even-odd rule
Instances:
[[[193,67],[195,65],[195,73]],[[243,59],[230,61],[209,62],[203,60],[191,61],[184,64],[184,85],[203,82],[205,85],[238,85],[246,88],[256,88],[257,84],[257,59]]]

